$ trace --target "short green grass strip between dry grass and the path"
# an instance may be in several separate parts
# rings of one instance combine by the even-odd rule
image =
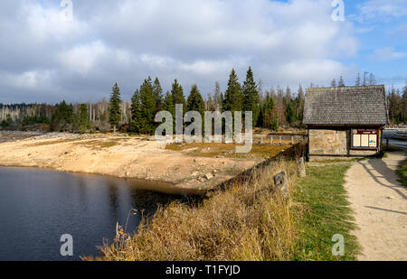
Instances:
[[[292,209],[298,230],[294,260],[355,260],[358,246],[350,233],[355,224],[343,187],[348,168],[347,164],[308,167],[307,178],[298,180]],[[345,237],[345,256],[332,256],[331,239],[336,234]]]

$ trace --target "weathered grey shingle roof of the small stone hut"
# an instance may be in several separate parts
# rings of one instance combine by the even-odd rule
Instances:
[[[387,125],[384,86],[308,88],[304,124]]]

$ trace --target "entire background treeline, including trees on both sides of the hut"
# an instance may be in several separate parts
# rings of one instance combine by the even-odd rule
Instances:
[[[355,85],[367,86],[376,83],[374,74],[364,78],[357,75]],[[333,79],[332,87],[345,86],[340,77],[338,82]],[[310,87],[316,87],[311,84]],[[407,122],[407,81],[402,89],[387,90],[389,116],[392,124]],[[184,88],[175,79],[171,89],[164,94],[158,78],[148,77],[137,88],[130,102],[123,101],[116,83],[109,100],[98,103],[67,104],[65,101],[52,106],[48,104],[0,104],[0,125],[3,127],[33,126],[45,124],[53,131],[109,131],[120,128],[139,134],[153,134],[156,126],[156,113],[166,110],[175,119],[175,104],[184,106],[186,111],[198,111],[204,119],[204,111],[252,111],[253,126],[279,130],[280,126],[302,126],[304,110],[304,89],[301,85],[294,92],[291,88],[270,88],[264,90],[261,80],[256,82],[251,68],[246,79],[239,82],[235,70],[232,70],[227,88],[222,92],[218,82],[213,93],[204,99],[197,85],[190,88],[185,98]]]

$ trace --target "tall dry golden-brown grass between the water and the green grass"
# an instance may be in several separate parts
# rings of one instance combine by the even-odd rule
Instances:
[[[142,221],[135,236],[119,229],[96,260],[289,260],[294,237],[289,202],[270,187],[273,175],[282,170],[293,185],[295,163],[279,162],[208,199],[170,203]]]

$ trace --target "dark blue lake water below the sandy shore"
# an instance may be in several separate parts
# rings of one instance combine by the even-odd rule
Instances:
[[[128,232],[137,228],[140,214],[129,215],[131,209],[146,214],[170,200],[139,186],[100,175],[0,167],[0,261],[98,256],[97,246],[115,237],[117,222],[124,227],[128,219]],[[60,254],[64,234],[73,237],[74,256]]]

